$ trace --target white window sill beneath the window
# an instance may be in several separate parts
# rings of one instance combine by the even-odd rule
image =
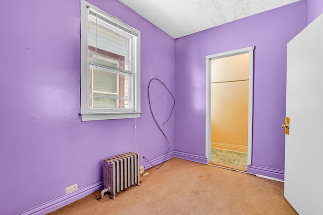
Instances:
[[[81,113],[82,121],[140,118],[142,112]]]

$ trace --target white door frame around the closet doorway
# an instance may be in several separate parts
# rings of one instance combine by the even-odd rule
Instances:
[[[206,59],[206,110],[205,110],[205,157],[211,161],[211,60],[249,53],[249,104],[248,104],[248,160],[252,155],[252,113],[253,113],[253,49],[254,46],[205,56]]]

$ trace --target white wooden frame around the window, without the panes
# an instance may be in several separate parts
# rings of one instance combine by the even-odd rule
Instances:
[[[90,78],[89,68],[90,63],[88,61],[88,9],[95,10],[100,14],[109,18],[110,21],[120,26],[123,29],[127,29],[128,32],[133,32],[134,44],[133,52],[133,71],[132,71],[132,109],[127,108],[90,108]],[[114,27],[111,25],[111,30],[122,32],[127,34],[126,31],[120,29],[120,27]],[[129,33],[128,33],[129,34]],[[119,18],[113,17],[88,2],[81,0],[81,116],[82,121],[91,120],[105,120],[105,119],[125,119],[125,118],[139,118],[141,116],[140,109],[140,31],[130,27],[123,23]],[[129,36],[131,36],[129,34]]]

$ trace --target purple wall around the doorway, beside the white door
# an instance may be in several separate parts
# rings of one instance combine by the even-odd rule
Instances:
[[[175,40],[175,150],[205,156],[205,56],[255,46],[252,173],[283,178],[287,43],[305,26],[301,1]]]

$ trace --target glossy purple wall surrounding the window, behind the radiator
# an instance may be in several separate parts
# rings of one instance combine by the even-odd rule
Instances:
[[[137,119],[82,122],[80,3],[3,1],[1,14],[0,214],[16,214],[102,180],[102,159],[138,152],[141,163],[165,155],[147,100],[150,78],[175,91],[175,41],[117,0],[89,0],[142,32],[141,107]],[[156,118],[173,105],[154,83]],[[160,108],[162,105],[163,108]],[[163,126],[174,151],[174,115]],[[79,197],[80,198],[80,197]],[[62,205],[61,205],[62,206]]]

